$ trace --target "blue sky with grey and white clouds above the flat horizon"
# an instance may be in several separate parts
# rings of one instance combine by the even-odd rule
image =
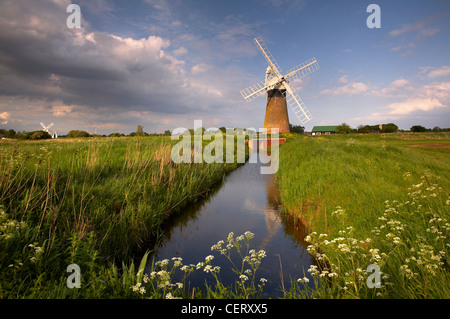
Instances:
[[[450,127],[448,0],[0,0],[0,127],[130,133],[264,123],[261,36],[282,71],[316,57],[293,86],[313,120]],[[366,8],[381,8],[381,28]],[[300,124],[290,113],[290,122]]]

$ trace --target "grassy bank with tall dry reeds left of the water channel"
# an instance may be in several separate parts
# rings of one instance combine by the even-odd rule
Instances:
[[[239,165],[175,164],[175,143],[170,137],[1,143],[0,298],[129,297],[133,252]],[[84,289],[66,287],[72,263],[81,268]]]

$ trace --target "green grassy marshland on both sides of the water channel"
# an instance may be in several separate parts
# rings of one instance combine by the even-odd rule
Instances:
[[[450,134],[286,138],[275,176],[283,218],[308,230],[315,262],[285,283],[284,297],[450,298]],[[230,233],[197,264],[143,252],[170,216],[242,165],[175,164],[174,143],[0,142],[0,298],[261,296],[257,234]],[[218,255],[236,274],[231,286]],[[80,267],[80,289],[68,287],[70,264]],[[192,287],[193,272],[212,284]]]

